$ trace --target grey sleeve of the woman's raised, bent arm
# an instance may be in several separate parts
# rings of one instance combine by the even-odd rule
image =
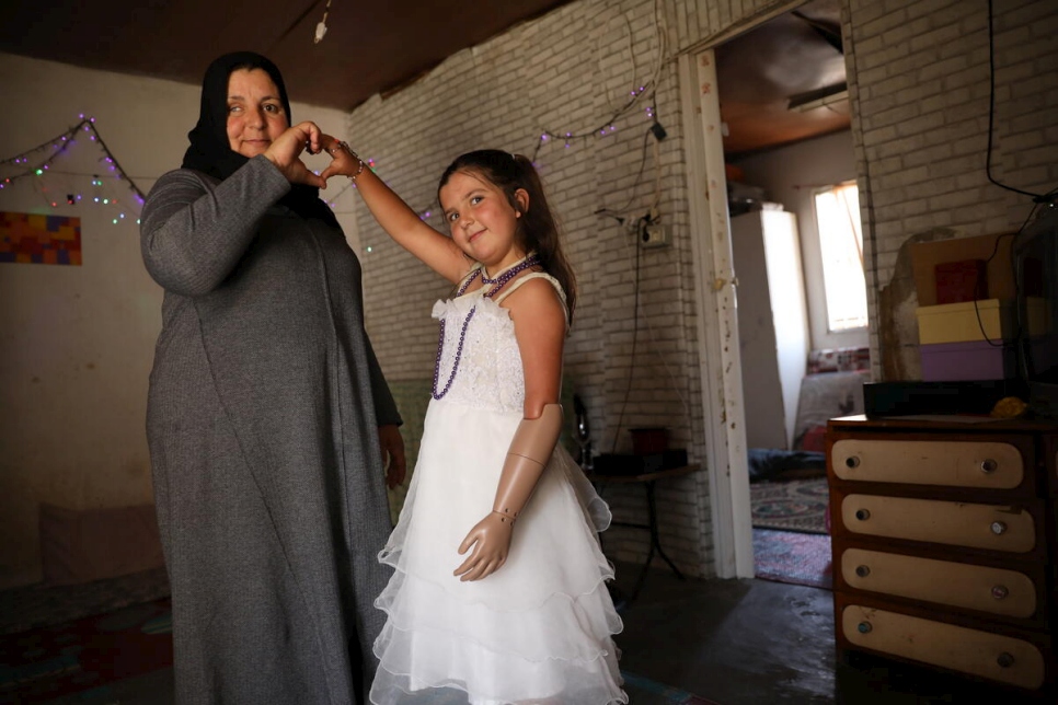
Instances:
[[[140,223],[148,273],[166,291],[208,293],[250,246],[261,217],[289,190],[265,157],[254,157],[212,188],[188,170],[164,174],[147,197]]]

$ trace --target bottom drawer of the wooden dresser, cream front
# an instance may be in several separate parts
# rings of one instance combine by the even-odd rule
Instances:
[[[839,611],[848,645],[1037,690],[1047,658],[1033,642],[852,602]]]

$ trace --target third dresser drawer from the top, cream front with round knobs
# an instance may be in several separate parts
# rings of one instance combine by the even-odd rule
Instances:
[[[999,616],[1038,617],[1046,577],[1009,568],[939,560],[860,547],[836,550],[849,588]],[[1040,583],[1040,585],[1037,585]]]

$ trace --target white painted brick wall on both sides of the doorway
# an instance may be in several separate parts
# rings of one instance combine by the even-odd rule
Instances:
[[[668,50],[748,28],[755,16],[789,8],[774,0],[663,0]],[[1043,192],[1058,182],[1058,77],[1053,48],[1058,5],[997,0],[997,119],[993,175]],[[1022,196],[988,183],[987,4],[957,0],[847,0],[842,7],[853,143],[864,208],[869,287],[884,285],[907,238],[934,227],[970,235],[1020,224]],[[436,183],[461,152],[495,147],[532,155],[544,130],[580,134],[601,127],[613,106],[655,68],[654,0],[580,0],[473,49],[450,57],[399,93],[353,112],[349,135],[365,158],[413,208],[436,211]],[[625,18],[628,20],[625,21]],[[632,39],[633,63],[629,55]],[[674,446],[704,458],[701,380],[689,246],[679,88],[666,63],[657,114],[668,138],[643,136],[647,100],[613,120],[617,131],[549,140],[537,154],[552,206],[566,232],[580,299],[565,370],[590,411],[596,448],[629,447],[621,428],[666,426]],[[640,322],[632,352],[635,249],[625,228],[596,216],[621,210],[634,220],[660,205],[672,246],[640,258]],[[628,207],[625,205],[628,204]],[[448,287],[357,217],[365,264],[368,324],[392,379],[432,373],[436,324],[428,311]],[[440,227],[436,213],[430,218]],[[876,302],[871,297],[872,316]],[[874,320],[874,317],[872,319]],[[872,333],[877,361],[877,334]],[[877,362],[875,362],[877,365]],[[704,473],[658,488],[662,541],[681,568],[712,575],[710,502]],[[614,517],[643,521],[636,487],[607,488]],[[642,559],[641,531],[614,528],[608,553]]]

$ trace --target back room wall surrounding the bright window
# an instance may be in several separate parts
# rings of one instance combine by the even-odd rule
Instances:
[[[768,200],[782,204],[797,216],[801,232],[801,261],[805,275],[810,345],[814,349],[865,347],[867,331],[830,332],[827,298],[823,286],[823,253],[816,228],[812,190],[855,181],[855,153],[852,132],[844,130],[805,140],[781,149],[737,160],[743,181],[763,188]]]

